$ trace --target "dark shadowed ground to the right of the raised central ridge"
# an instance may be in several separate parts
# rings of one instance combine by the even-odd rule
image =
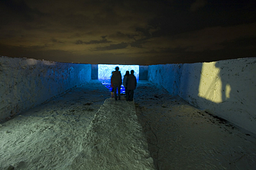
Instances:
[[[256,169],[256,138],[148,81],[134,103],[157,169]]]

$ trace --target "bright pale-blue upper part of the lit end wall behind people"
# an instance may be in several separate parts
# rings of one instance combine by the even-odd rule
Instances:
[[[113,65],[113,64],[99,64],[98,65],[98,78],[99,80],[110,80],[112,76],[112,71],[115,71],[115,67],[119,67],[119,71],[121,71],[122,79],[124,78],[125,72],[134,70],[134,76],[139,80],[139,65]]]

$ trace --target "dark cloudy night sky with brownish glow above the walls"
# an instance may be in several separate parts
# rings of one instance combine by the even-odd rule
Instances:
[[[90,64],[256,57],[253,0],[0,0],[0,55]]]

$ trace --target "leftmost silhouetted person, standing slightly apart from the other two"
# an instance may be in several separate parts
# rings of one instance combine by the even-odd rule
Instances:
[[[114,96],[115,96],[115,100],[117,101],[117,97],[118,100],[120,100],[121,98],[121,85],[122,85],[122,76],[121,73],[119,71],[119,67],[115,67],[116,71],[112,72],[112,76],[111,76],[111,82],[113,83],[113,89],[114,89]],[[116,88],[118,89],[118,96],[116,96]]]

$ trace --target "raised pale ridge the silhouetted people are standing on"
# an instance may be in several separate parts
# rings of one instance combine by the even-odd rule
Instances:
[[[155,169],[133,102],[106,99],[71,169]]]

